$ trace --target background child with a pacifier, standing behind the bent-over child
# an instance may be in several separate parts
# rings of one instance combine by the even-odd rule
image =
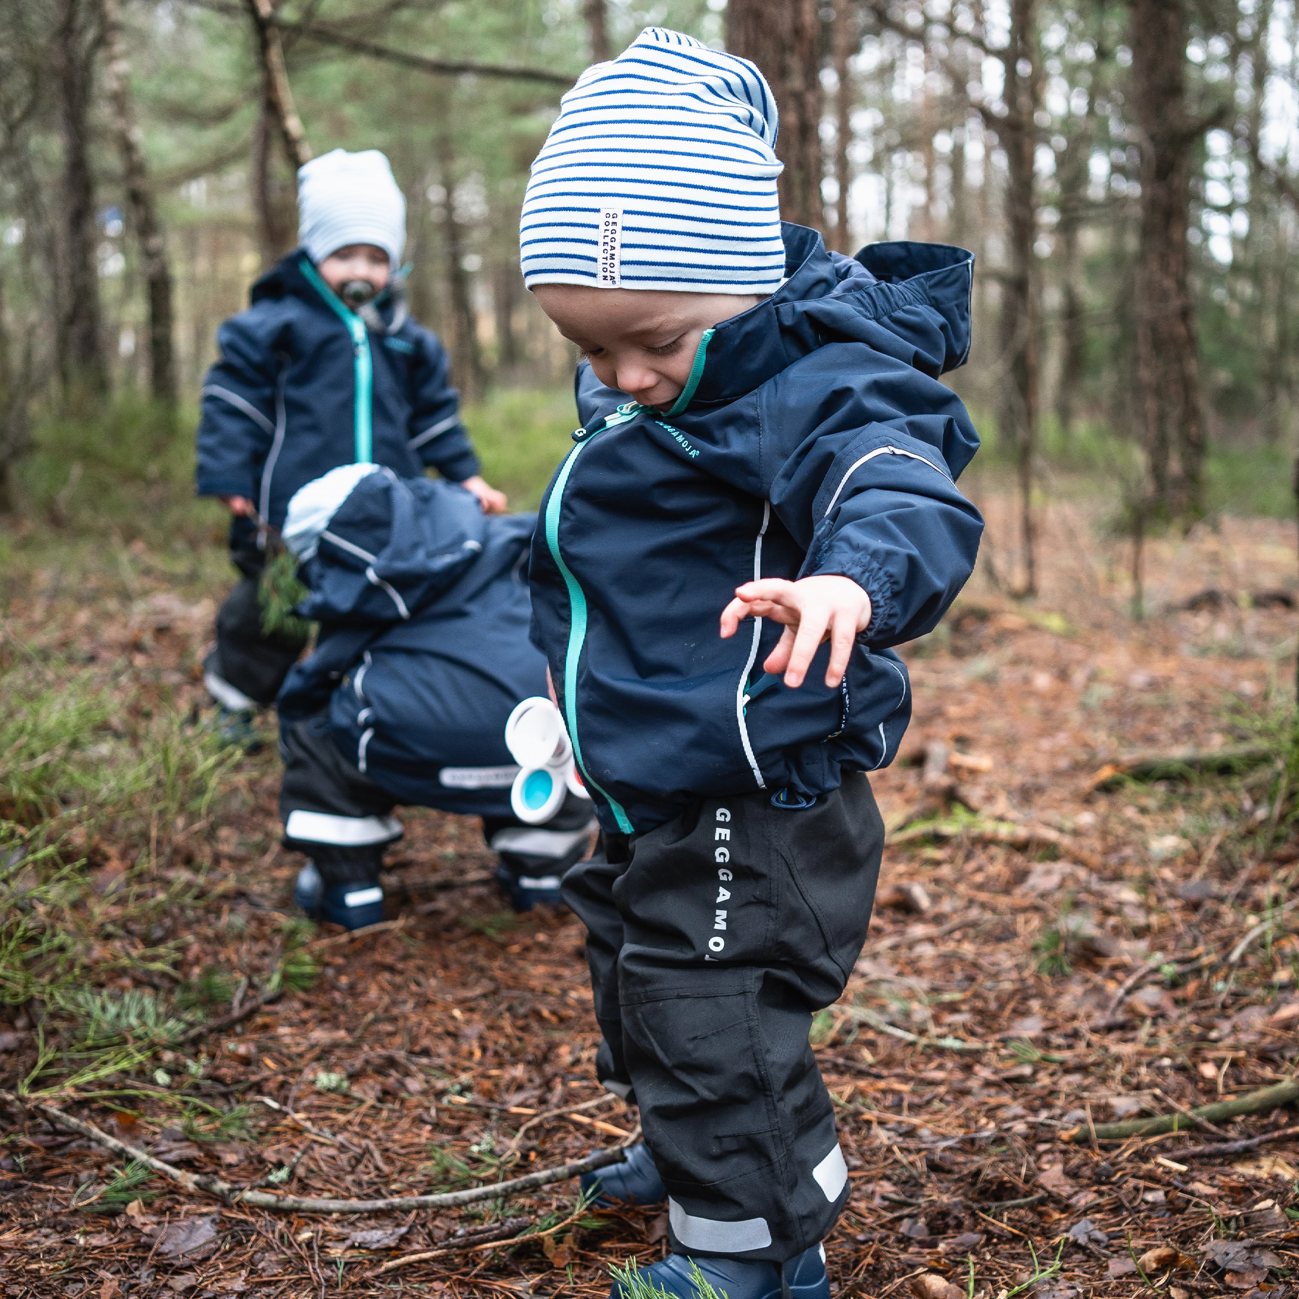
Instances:
[[[247,310],[217,331],[221,360],[203,386],[200,496],[229,507],[240,573],[217,613],[204,679],[222,733],[252,737],[303,652],[301,637],[262,630],[266,540],[299,487],[338,465],[403,477],[436,469],[487,512],[505,498],[479,474],[438,339],[401,292],[405,199],[374,149],[334,149],[297,173],[299,242],[252,286]]]

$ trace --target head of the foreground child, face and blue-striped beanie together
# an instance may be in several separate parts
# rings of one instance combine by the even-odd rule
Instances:
[[[609,387],[670,407],[704,330],[779,287],[777,121],[753,64],[664,27],[560,101],[523,196],[520,260]],[[592,351],[596,334],[650,346]]]

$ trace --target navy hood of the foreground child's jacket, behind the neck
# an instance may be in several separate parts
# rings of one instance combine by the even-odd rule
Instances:
[[[781,234],[785,283],[712,331],[685,409],[734,401],[827,343],[866,343],[931,378],[965,362],[973,253],[946,244],[879,243],[844,257],[829,252],[807,226],[782,222]],[[942,320],[942,355],[933,346],[934,312]]]

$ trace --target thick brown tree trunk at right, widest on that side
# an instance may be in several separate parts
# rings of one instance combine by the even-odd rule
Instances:
[[[1200,129],[1187,114],[1186,38],[1185,0],[1131,0],[1131,97],[1142,152],[1134,409],[1151,507],[1183,520],[1204,509],[1199,339],[1186,243],[1191,148]]]

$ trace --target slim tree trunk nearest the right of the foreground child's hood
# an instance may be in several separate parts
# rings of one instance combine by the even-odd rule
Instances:
[[[1000,344],[1008,382],[1002,385],[1002,426],[1016,448],[1020,487],[1021,595],[1037,594],[1037,536],[1033,481],[1038,443],[1038,294],[1033,251],[1037,238],[1037,196],[1033,155],[1037,144],[1034,113],[1039,101],[1035,57],[1034,0],[1012,0],[1011,44],[1002,56],[1005,68],[1007,116],[992,118],[1007,158],[1008,265],[1002,277]],[[1021,71],[1028,64],[1029,71]]]

